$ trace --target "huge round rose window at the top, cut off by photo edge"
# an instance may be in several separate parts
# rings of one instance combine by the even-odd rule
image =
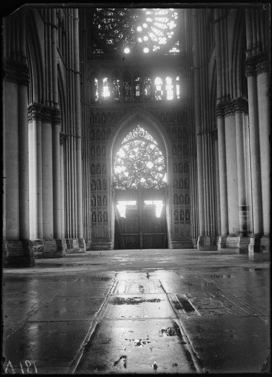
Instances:
[[[109,47],[125,54],[152,51],[178,52],[178,10],[173,8],[115,9],[97,8],[93,25],[98,36]],[[103,49],[95,44],[94,53]]]

